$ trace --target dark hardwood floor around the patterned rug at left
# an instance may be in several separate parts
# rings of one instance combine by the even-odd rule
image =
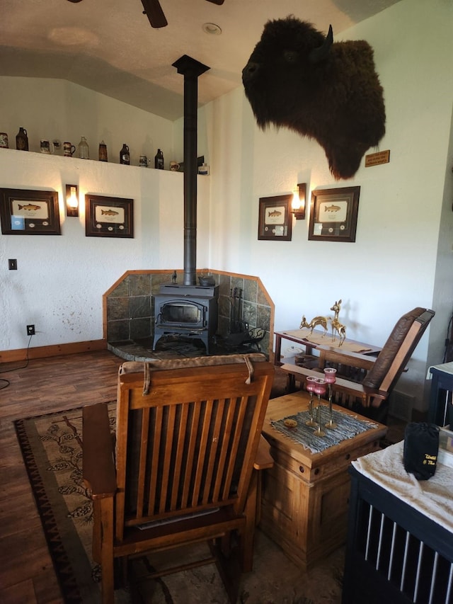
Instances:
[[[116,397],[108,351],[0,365],[0,602],[62,603],[13,421]],[[0,388],[4,382],[0,381]]]

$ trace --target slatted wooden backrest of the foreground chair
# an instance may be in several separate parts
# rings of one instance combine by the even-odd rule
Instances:
[[[156,364],[146,394],[143,371],[119,376],[119,540],[125,525],[222,506],[241,513],[273,382],[273,365],[259,360],[251,380],[243,362]]]

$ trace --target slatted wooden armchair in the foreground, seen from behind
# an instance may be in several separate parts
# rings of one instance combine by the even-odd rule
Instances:
[[[113,603],[115,559],[124,570],[137,554],[197,542],[209,542],[210,557],[154,576],[216,562],[236,602],[240,574],[252,567],[255,470],[273,464],[260,449],[273,374],[261,354],[123,363],[115,452],[107,406],[84,407],[103,603]]]

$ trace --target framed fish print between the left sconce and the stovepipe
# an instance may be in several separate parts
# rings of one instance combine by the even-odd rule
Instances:
[[[86,237],[134,237],[134,200],[85,195]]]

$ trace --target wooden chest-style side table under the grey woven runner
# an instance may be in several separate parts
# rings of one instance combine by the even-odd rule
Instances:
[[[345,542],[352,460],[377,450],[387,428],[377,424],[323,452],[311,453],[272,428],[271,421],[305,411],[306,392],[271,399],[263,426],[274,466],[265,470],[260,527],[302,570]],[[367,418],[334,406],[362,421]],[[321,438],[321,437],[320,437]]]

